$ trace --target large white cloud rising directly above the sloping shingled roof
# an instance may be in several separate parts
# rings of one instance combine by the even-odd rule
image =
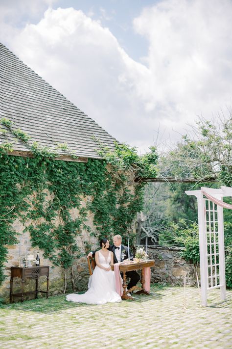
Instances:
[[[133,143],[146,133],[144,125],[137,131],[142,104],[134,77],[143,83],[149,71],[120,48],[108,28],[82,11],[48,9],[37,25],[29,24],[15,36],[12,47],[117,139]]]

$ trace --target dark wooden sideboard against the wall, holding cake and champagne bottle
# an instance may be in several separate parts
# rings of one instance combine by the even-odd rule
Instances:
[[[46,276],[46,291],[38,290],[38,280],[40,276]],[[13,293],[13,279],[14,277],[21,278],[21,293]],[[24,292],[25,278],[31,277],[35,279],[35,291]],[[35,298],[38,297],[38,292],[46,293],[48,298],[48,287],[49,287],[49,267],[11,267],[10,268],[10,303],[13,301],[13,296],[21,297],[21,301],[24,300],[24,295],[35,293]]]

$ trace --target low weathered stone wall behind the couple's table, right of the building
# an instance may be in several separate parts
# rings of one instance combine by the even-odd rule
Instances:
[[[196,268],[180,257],[181,248],[150,246],[148,255],[155,260],[155,267],[151,268],[151,282],[167,282],[171,285],[194,286],[196,284]],[[198,270],[199,277],[199,270]]]

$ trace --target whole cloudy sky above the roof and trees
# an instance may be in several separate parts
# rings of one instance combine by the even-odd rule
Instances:
[[[120,142],[228,114],[232,0],[0,0],[0,41]]]

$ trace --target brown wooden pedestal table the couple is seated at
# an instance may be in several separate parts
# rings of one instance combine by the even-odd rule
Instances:
[[[143,295],[150,295],[150,293],[148,291],[145,291],[144,289],[144,284],[145,284],[145,280],[144,280],[144,268],[147,267],[154,267],[155,265],[155,261],[154,259],[150,259],[148,261],[142,261],[142,262],[131,262],[131,263],[127,263],[127,262],[123,262],[119,265],[119,270],[120,272],[122,272],[123,274],[123,295],[122,295],[122,299],[134,299],[133,297],[131,297],[130,295],[127,295],[126,292],[126,288],[127,288],[127,284],[126,284],[126,271],[131,271],[131,270],[138,270],[141,269],[141,290],[136,292],[138,295],[143,294]],[[111,269],[114,270],[114,266],[111,266]]]

